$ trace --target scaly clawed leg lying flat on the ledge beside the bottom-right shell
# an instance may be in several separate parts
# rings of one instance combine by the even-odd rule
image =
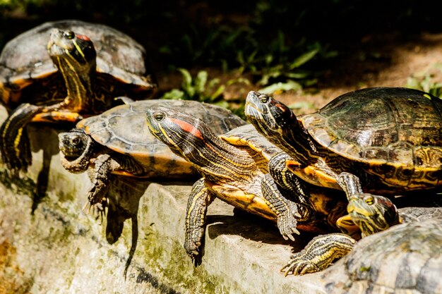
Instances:
[[[335,260],[347,255],[356,244],[349,235],[333,233],[318,235],[306,247],[292,255],[281,271],[302,275],[326,269]]]

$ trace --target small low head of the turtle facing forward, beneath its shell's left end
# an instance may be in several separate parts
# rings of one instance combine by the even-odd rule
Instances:
[[[92,138],[82,129],[59,133],[61,165],[72,173],[88,169],[92,155]]]

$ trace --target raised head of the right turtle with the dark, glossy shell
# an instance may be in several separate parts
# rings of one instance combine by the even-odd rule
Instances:
[[[282,134],[287,125],[297,121],[288,106],[268,94],[254,91],[247,94],[245,114],[256,130],[266,137]]]

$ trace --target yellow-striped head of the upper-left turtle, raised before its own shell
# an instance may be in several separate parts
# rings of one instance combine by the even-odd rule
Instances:
[[[75,71],[95,70],[95,47],[92,41],[71,30],[51,30],[47,51],[58,68]]]

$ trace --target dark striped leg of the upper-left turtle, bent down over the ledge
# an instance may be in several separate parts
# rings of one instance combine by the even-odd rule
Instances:
[[[32,164],[32,154],[26,125],[32,121],[44,107],[32,104],[20,104],[0,126],[1,159],[8,169],[27,171]]]

